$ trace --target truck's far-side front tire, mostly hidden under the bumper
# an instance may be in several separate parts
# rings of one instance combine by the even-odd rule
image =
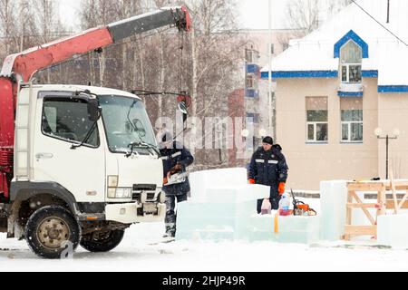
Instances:
[[[102,235],[102,237],[83,237],[80,245],[90,252],[109,252],[121,244],[123,235],[123,229],[115,229],[107,233],[107,235]]]

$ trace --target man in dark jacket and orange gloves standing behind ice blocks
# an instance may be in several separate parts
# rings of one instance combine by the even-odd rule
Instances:
[[[253,154],[248,170],[249,183],[270,187],[269,201],[272,209],[278,208],[287,182],[287,160],[281,151],[282,148],[274,145],[271,137],[264,138],[262,147]],[[261,212],[262,202],[263,199],[257,200],[257,213]]]

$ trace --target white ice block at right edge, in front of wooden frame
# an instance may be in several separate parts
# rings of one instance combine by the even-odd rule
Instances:
[[[408,215],[379,216],[377,243],[393,248],[408,249]]]

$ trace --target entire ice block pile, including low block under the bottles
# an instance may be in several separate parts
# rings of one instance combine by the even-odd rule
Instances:
[[[319,217],[257,215],[257,199],[269,198],[269,187],[248,185],[246,169],[217,169],[190,175],[191,200],[178,205],[176,239],[268,240],[313,243]]]

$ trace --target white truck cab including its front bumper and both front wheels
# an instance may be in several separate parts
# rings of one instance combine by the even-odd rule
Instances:
[[[132,223],[164,219],[162,161],[140,98],[107,88],[26,83],[16,108],[10,198],[19,222],[9,223],[9,237],[25,237],[46,257],[61,255],[64,241],[105,251],[103,241],[119,244]],[[47,210],[55,216],[48,222]],[[66,215],[79,227],[70,228]],[[112,233],[120,237],[112,241]]]

